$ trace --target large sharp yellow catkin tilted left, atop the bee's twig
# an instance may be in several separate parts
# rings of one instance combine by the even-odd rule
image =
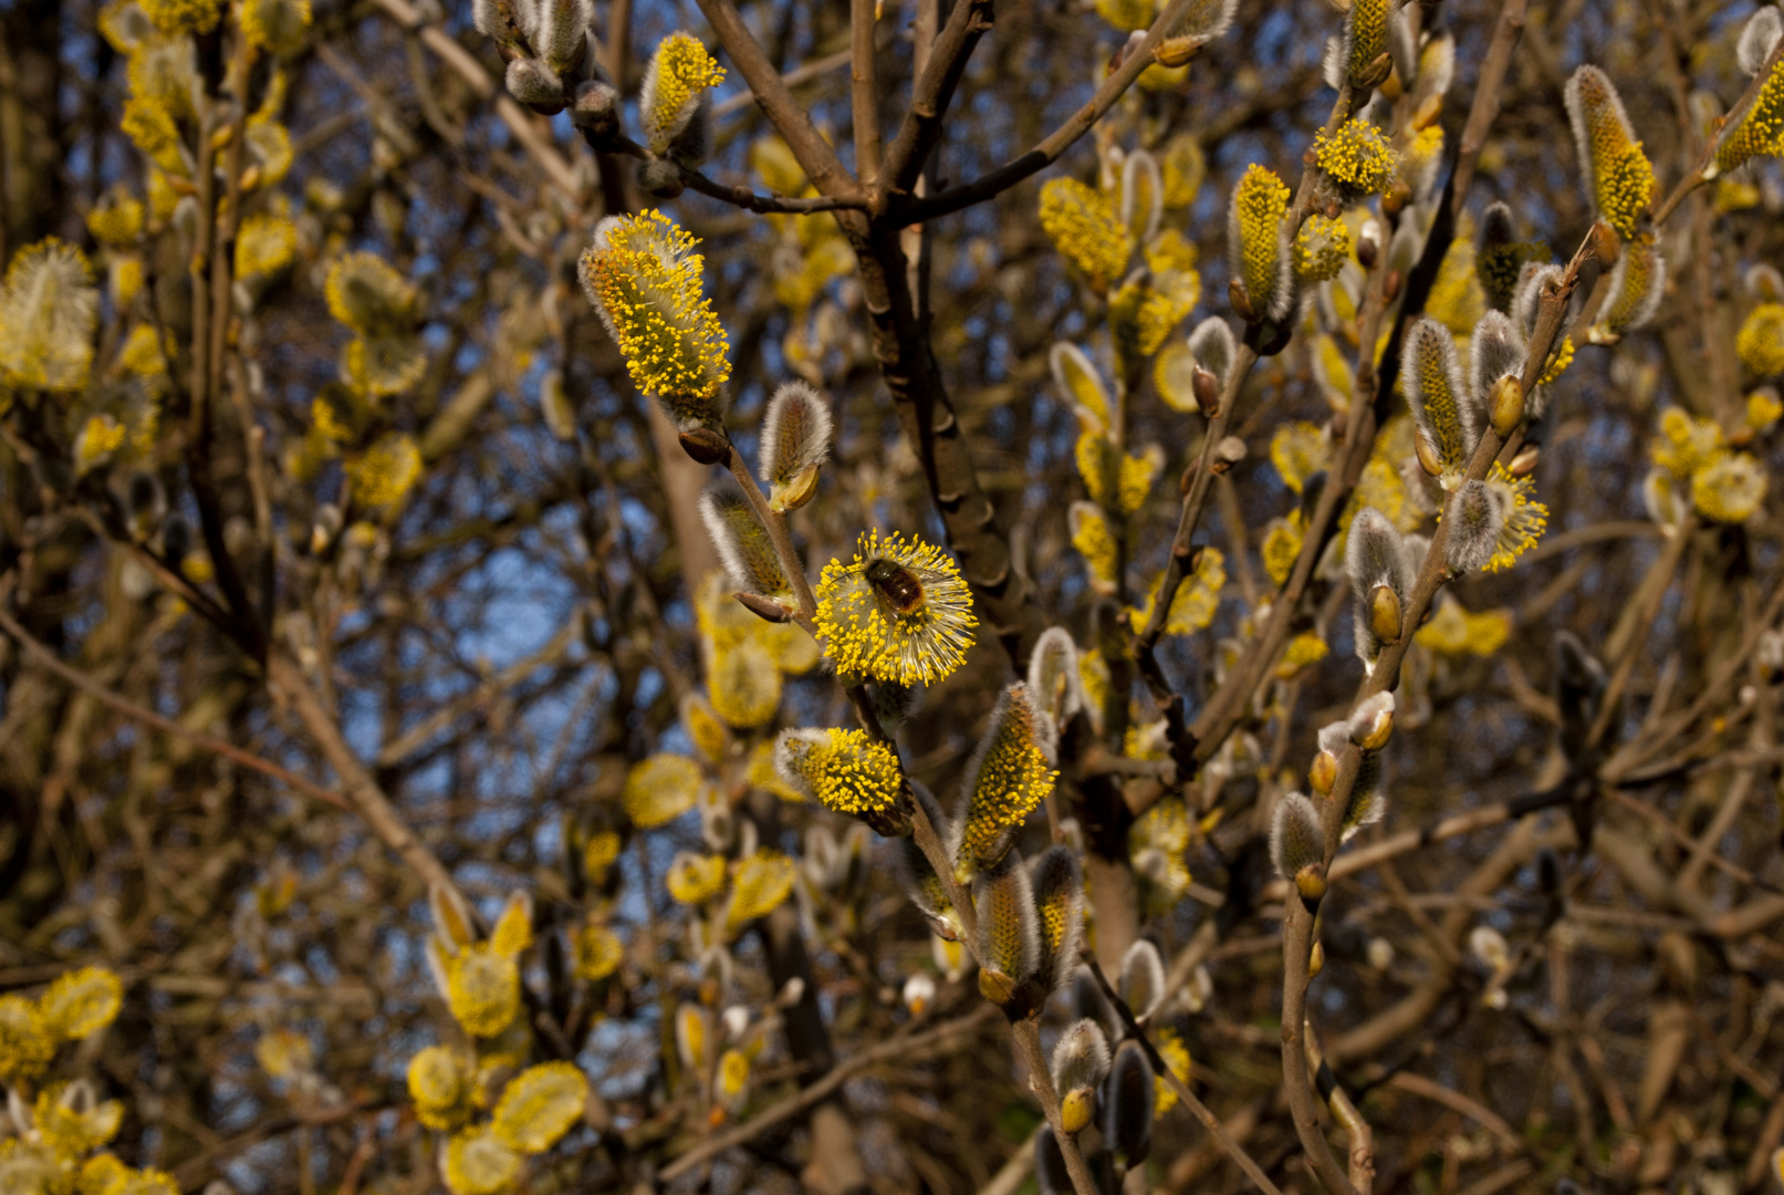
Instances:
[[[683,432],[723,426],[717,398],[731,376],[724,326],[701,294],[698,244],[658,210],[608,216],[580,266],[632,382],[657,396]]]

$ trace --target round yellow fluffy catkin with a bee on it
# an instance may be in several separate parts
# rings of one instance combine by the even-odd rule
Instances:
[[[844,672],[929,685],[965,662],[972,594],[954,562],[917,537],[865,532],[817,581],[817,633]]]

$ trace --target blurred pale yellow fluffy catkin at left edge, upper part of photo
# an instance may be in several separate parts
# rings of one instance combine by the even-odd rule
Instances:
[[[93,366],[98,287],[86,253],[55,237],[12,257],[0,282],[0,380],[77,391]]]

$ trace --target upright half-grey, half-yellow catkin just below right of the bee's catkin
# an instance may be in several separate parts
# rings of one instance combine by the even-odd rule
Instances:
[[[1042,724],[1028,685],[1017,681],[999,694],[960,785],[965,817],[954,867],[962,881],[1003,858],[1015,828],[1058,778],[1042,749]]]

